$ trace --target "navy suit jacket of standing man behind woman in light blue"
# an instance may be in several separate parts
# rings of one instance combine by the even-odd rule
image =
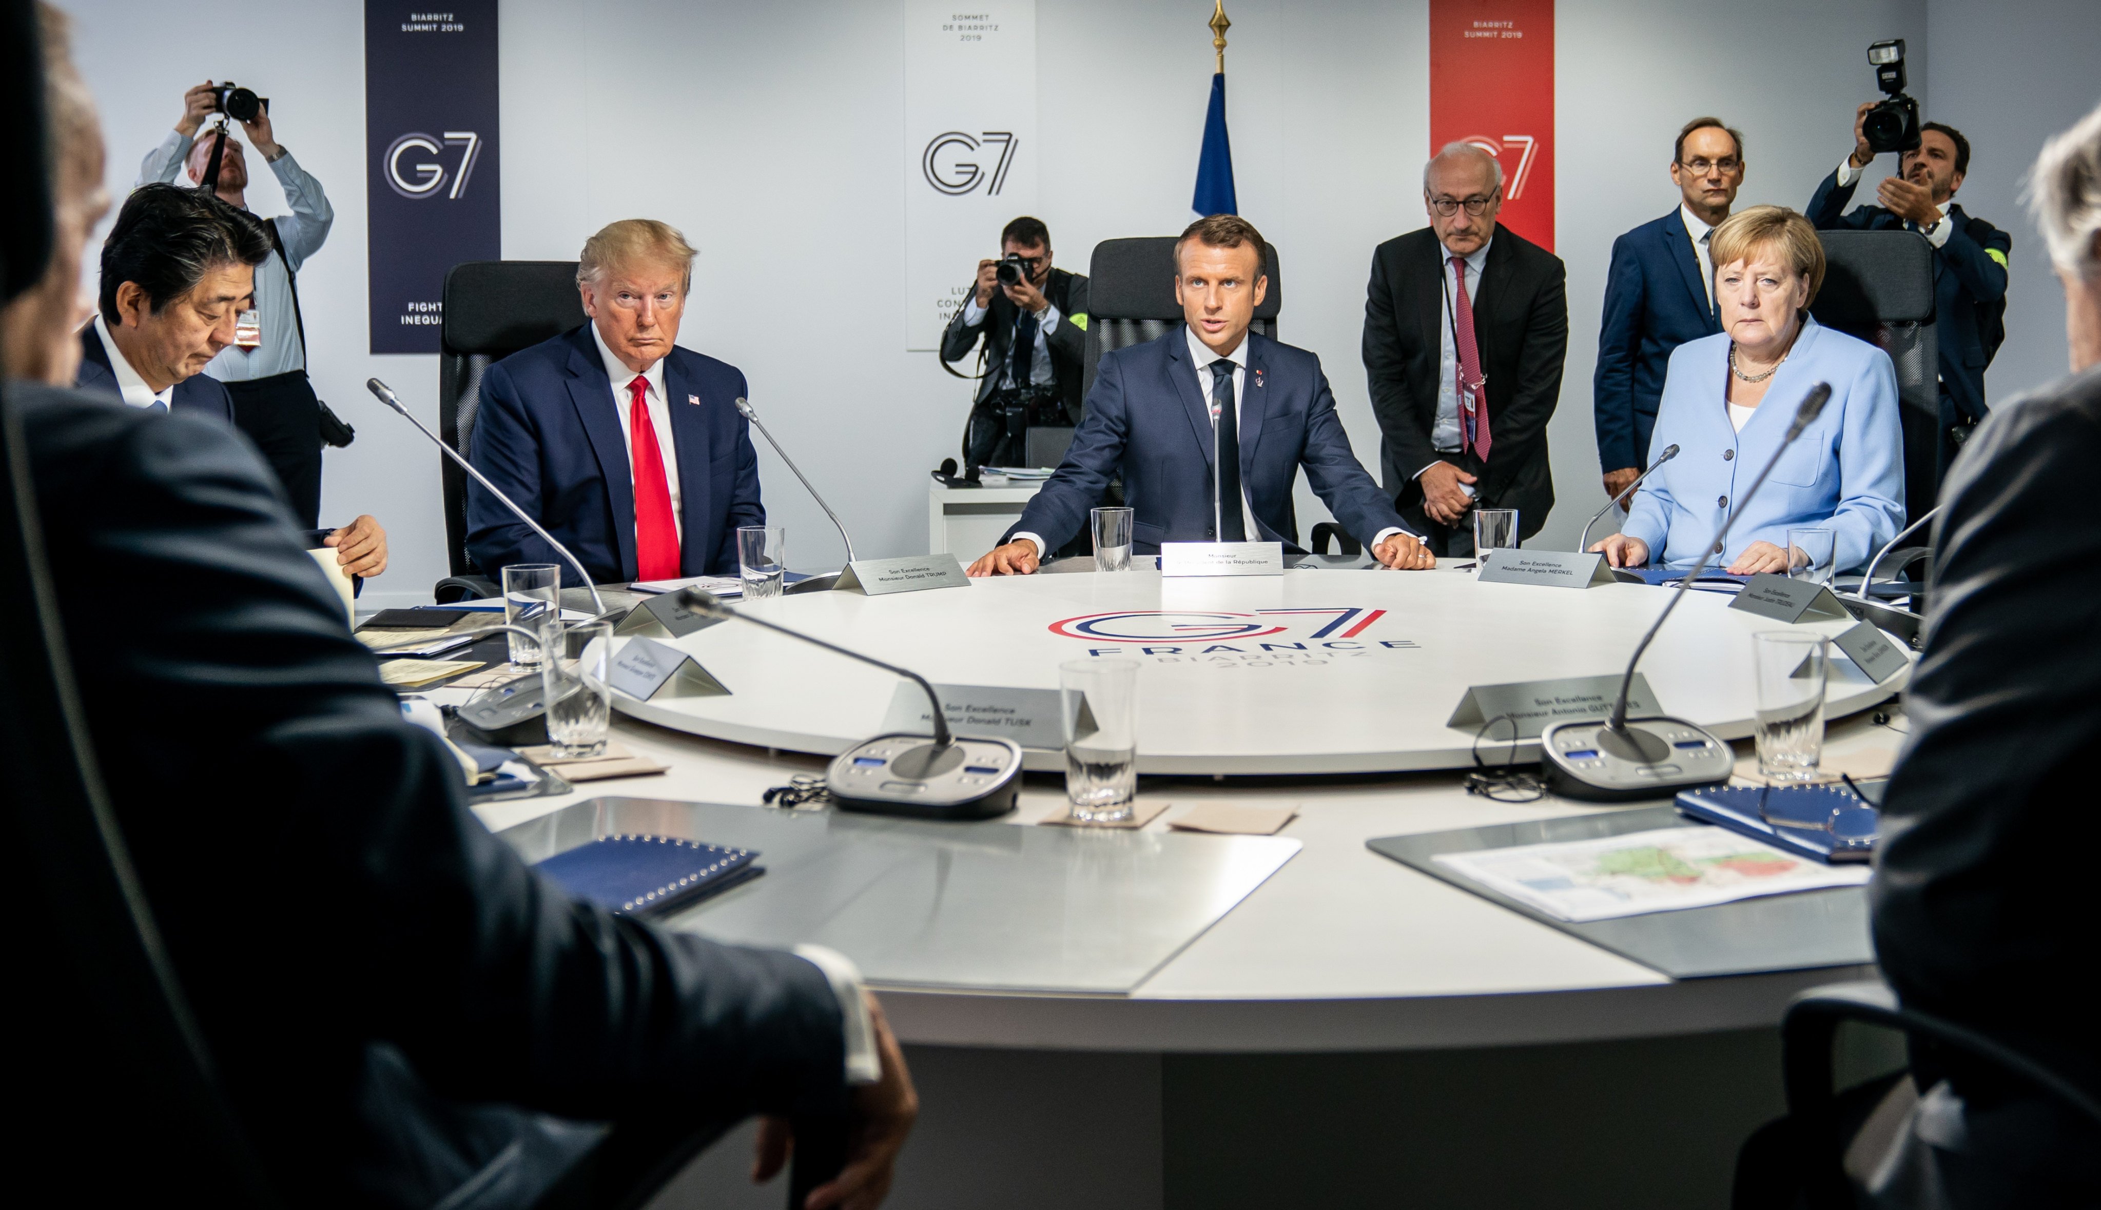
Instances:
[[[1649,433],[1664,399],[1670,351],[1717,332],[1721,319],[1708,305],[1700,256],[1677,206],[1611,242],[1590,380],[1601,471],[1649,464]]]

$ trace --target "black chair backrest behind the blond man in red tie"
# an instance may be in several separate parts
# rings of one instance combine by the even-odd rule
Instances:
[[[481,374],[504,357],[584,321],[576,260],[462,260],[445,273],[445,324],[437,353],[437,433],[460,454],[475,443]],[[454,576],[466,557],[466,475],[439,456],[445,489],[445,555]]]

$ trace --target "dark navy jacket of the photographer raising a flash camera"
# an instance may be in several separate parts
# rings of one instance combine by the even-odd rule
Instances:
[[[1809,200],[1807,218],[1819,229],[1904,229],[1904,218],[1880,206],[1855,206],[1849,214],[1840,214],[1859,183],[1861,176],[1855,176],[1853,185],[1840,187],[1838,170],[1832,168]],[[1985,302],[2006,298],[2006,254],[2013,250],[2013,237],[1983,218],[1971,218],[1956,204],[1948,206],[1948,216],[1954,221],[1954,231],[1933,250],[1933,328],[1941,349],[1941,393],[1971,420],[1983,420],[1990,412],[1983,401],[1983,368],[1990,357],[1983,351],[1977,311]],[[1954,416],[1946,420],[1952,424]]]

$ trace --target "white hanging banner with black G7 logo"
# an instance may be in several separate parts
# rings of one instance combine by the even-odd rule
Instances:
[[[1036,206],[1036,0],[906,0],[906,349],[939,349]],[[1040,218],[1040,214],[1038,214]]]

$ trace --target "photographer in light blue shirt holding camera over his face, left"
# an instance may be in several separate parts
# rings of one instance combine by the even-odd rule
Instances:
[[[256,294],[235,321],[235,338],[204,368],[227,384],[233,395],[233,422],[263,450],[263,458],[284,483],[292,513],[300,525],[315,527],[321,515],[321,439],[349,445],[351,431],[336,420],[307,380],[307,332],[298,315],[296,275],[309,256],[321,250],[336,212],[328,206],[321,183],[298,166],[269,120],[269,101],[231,80],[206,80],[183,92],[183,118],[147,151],[139,166],[139,185],[172,183],[176,170],[189,168],[191,185],[202,185],[210,172],[214,130],[206,118],[221,113],[242,124],[248,143],[263,155],[292,212],[263,223],[271,237],[269,260],[256,265]],[[231,206],[248,208],[248,158],[237,139],[225,139],[214,193]]]

